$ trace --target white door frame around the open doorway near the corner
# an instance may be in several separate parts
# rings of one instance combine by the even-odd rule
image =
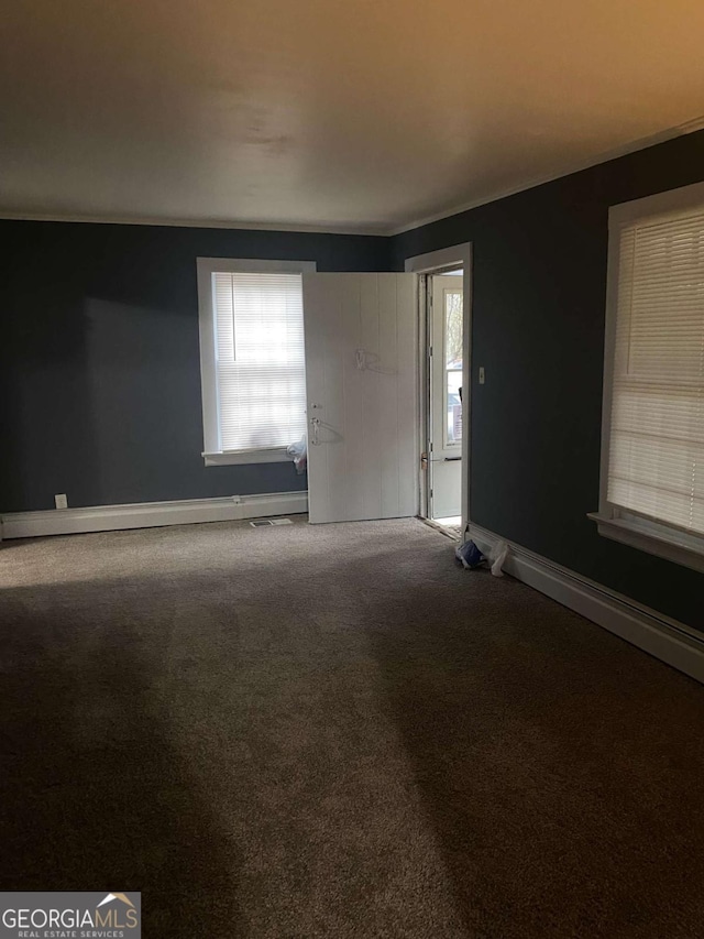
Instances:
[[[428,396],[429,396],[429,369],[428,369],[428,274],[442,274],[450,269],[462,267],[462,536],[470,526],[470,456],[472,435],[472,242],[454,244],[450,248],[441,248],[438,251],[429,251],[425,254],[416,254],[406,258],[404,270],[406,273],[418,275],[418,341],[420,354],[419,367],[419,415],[420,415],[420,439],[424,448],[428,443]],[[418,455],[420,465],[420,454]],[[419,472],[420,488],[420,513],[427,516],[428,493],[424,484],[422,472]]]

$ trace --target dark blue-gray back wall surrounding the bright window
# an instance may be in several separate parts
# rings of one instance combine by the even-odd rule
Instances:
[[[205,468],[196,258],[387,271],[389,240],[0,221],[0,511],[305,489],[293,463]]]

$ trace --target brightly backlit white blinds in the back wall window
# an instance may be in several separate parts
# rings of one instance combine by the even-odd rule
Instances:
[[[286,447],[306,429],[300,274],[213,273],[220,449]]]

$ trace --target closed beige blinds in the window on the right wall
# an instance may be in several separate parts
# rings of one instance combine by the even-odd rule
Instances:
[[[620,229],[607,499],[704,534],[702,209]]]

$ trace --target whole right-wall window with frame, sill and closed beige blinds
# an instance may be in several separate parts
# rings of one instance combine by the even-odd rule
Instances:
[[[704,186],[612,209],[601,534],[704,570]]]

